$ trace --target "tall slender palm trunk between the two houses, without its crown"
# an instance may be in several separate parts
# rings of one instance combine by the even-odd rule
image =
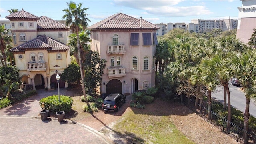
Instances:
[[[84,70],[82,66],[82,59],[81,59],[81,50],[80,50],[80,43],[79,43],[79,33],[78,30],[76,31],[76,40],[77,40],[77,52],[78,52],[78,59],[79,59],[79,66],[80,66],[80,73],[81,73],[81,83],[82,83],[82,89],[83,89],[83,94],[84,94],[84,99],[86,101],[86,104],[88,108],[90,108],[90,104],[86,98],[86,93],[85,93],[85,86],[84,86]]]

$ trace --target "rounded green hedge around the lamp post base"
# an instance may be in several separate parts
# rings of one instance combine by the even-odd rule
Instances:
[[[60,96],[60,102],[58,95],[48,96],[42,98],[39,102],[43,110],[49,110],[51,112],[64,111],[68,113],[72,109],[73,99],[70,96]]]

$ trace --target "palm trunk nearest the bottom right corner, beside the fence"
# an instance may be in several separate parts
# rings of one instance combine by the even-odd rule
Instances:
[[[244,144],[247,144],[247,136],[248,136],[248,126],[249,126],[249,106],[250,106],[250,98],[246,97],[246,106],[245,106],[245,112],[244,112]]]

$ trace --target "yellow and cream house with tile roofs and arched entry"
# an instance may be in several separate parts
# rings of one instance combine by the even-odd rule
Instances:
[[[24,86],[33,89],[56,88],[56,74],[61,75],[71,62],[66,46],[69,28],[46,16],[21,10],[6,16],[10,20],[16,67]],[[60,80],[60,88],[68,84]]]

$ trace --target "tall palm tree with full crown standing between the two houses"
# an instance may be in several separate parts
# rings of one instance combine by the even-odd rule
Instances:
[[[85,87],[84,87],[84,70],[82,68],[82,59],[81,59],[81,47],[80,47],[80,40],[79,40],[79,32],[81,31],[80,26],[85,30],[88,26],[88,21],[90,20],[87,18],[88,14],[85,13],[88,8],[82,8],[82,3],[78,5],[75,2],[67,2],[68,8],[62,10],[66,14],[62,17],[62,19],[66,19],[66,26],[70,24],[71,32],[76,34],[76,44],[77,44],[77,52],[78,52],[78,60],[80,66],[80,73],[82,79],[82,89],[84,98],[86,100],[86,104],[90,108],[90,104],[86,98]]]

